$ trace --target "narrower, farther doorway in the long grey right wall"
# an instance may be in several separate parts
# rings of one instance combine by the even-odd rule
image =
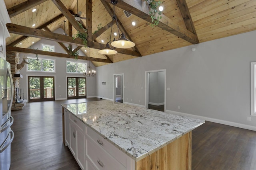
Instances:
[[[124,103],[124,74],[114,74],[114,102]]]

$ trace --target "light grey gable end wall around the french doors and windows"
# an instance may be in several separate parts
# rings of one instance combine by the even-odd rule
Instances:
[[[57,29],[54,31],[54,33],[60,33],[62,34],[62,29]],[[42,39],[32,45],[31,49],[41,49],[41,43],[48,44],[48,45],[55,45],[55,51],[57,53],[66,53],[60,45],[58,45],[57,42],[45,40]],[[67,45],[66,45],[67,46]],[[73,49],[75,49],[76,46],[73,45]],[[80,50],[79,55],[85,56],[84,53]],[[27,57],[36,57],[36,55],[33,54],[24,54],[20,53],[20,63],[22,61],[22,58],[24,56]],[[68,59],[68,58],[62,58],[62,57],[51,57],[46,55],[38,55],[39,58],[46,58],[46,59],[55,59],[55,67],[56,72],[54,73],[46,73],[46,72],[30,72],[27,71],[27,65],[24,66],[20,70],[20,74],[23,75],[23,78],[20,78],[20,88],[24,88],[24,97],[28,99],[28,76],[55,76],[55,100],[64,100],[67,99],[67,76],[69,77],[84,77],[82,74],[71,74],[66,73],[66,61],[77,61],[77,62],[88,62],[87,60],[74,60],[74,59]],[[94,67],[92,63],[90,63],[91,66]],[[96,94],[96,88],[95,88],[95,77],[88,77],[87,80],[87,98],[95,96]]]

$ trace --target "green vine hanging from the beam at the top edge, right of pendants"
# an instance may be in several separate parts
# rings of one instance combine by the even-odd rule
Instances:
[[[151,17],[151,27],[154,27],[154,25],[158,25],[159,20],[162,18],[160,15],[162,15],[161,11],[158,11],[158,7],[163,3],[162,1],[155,1],[155,0],[145,0],[148,5],[150,6],[151,11],[149,12]],[[156,15],[158,16],[156,17]]]

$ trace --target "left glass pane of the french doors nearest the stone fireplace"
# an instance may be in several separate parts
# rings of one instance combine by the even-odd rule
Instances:
[[[40,99],[40,77],[29,78],[29,97],[30,99]]]

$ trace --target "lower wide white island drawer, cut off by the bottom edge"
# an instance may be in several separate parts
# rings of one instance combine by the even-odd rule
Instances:
[[[86,139],[86,156],[98,170],[126,170],[125,166],[90,139]]]

